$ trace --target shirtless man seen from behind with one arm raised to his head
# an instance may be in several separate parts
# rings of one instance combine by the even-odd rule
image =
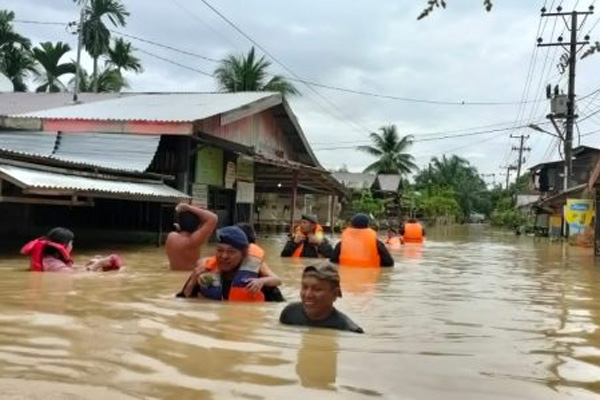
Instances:
[[[179,203],[175,224],[177,231],[169,233],[165,251],[172,270],[189,271],[200,259],[200,247],[217,226],[217,216],[208,210]]]

